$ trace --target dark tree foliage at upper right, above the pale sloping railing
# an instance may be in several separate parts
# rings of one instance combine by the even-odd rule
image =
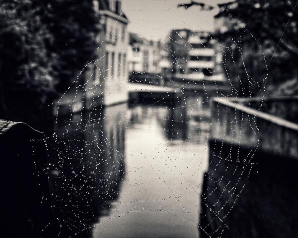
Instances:
[[[225,47],[223,61],[237,90],[234,96],[263,94],[264,87],[265,94],[297,93],[297,0],[235,0],[217,7],[216,23],[222,26],[213,37]],[[279,91],[290,81],[290,90]]]

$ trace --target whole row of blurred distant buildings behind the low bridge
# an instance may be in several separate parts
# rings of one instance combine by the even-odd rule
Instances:
[[[214,40],[208,40],[209,35],[209,32],[174,29],[167,41],[161,43],[131,34],[129,71],[194,81],[224,80],[222,48]]]

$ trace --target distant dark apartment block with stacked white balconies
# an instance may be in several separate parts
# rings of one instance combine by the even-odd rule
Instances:
[[[208,32],[189,29],[171,31],[169,58],[173,75],[193,80],[222,77],[216,74],[216,44],[214,40],[207,40],[208,36]]]

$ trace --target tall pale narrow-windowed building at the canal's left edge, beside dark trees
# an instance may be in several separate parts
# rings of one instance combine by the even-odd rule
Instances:
[[[102,27],[96,36],[97,59],[90,63],[87,80],[88,105],[111,106],[128,101],[128,19],[121,0],[94,0]],[[90,101],[91,100],[91,101]]]

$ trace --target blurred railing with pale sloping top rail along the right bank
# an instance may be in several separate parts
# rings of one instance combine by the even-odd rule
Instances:
[[[289,98],[282,99],[275,98],[275,101],[280,107],[287,107]],[[251,102],[258,100],[260,107],[249,107]],[[262,112],[262,102],[268,100],[215,98],[212,106],[212,139],[298,158],[298,124],[284,119],[282,115]],[[292,100],[297,101],[297,97]]]

